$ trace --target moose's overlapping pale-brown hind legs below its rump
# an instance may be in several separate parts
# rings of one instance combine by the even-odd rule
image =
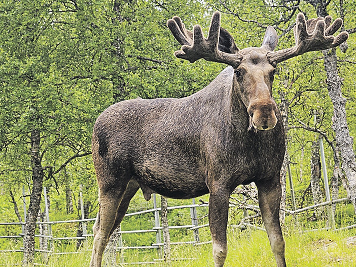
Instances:
[[[99,190],[99,213],[96,218],[94,231],[93,252],[91,255],[90,267],[100,267],[103,252],[108,244],[110,235],[114,231],[117,217],[117,209],[124,196],[128,181],[120,180],[120,184],[115,185],[115,189]]]

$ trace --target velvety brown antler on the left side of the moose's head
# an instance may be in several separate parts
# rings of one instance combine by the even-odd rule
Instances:
[[[188,31],[185,29],[182,20],[177,16],[168,20],[167,26],[182,45],[182,50],[174,52],[176,57],[187,59],[190,63],[204,58],[207,61],[226,63],[231,66],[240,64],[242,56],[239,53],[239,49],[236,47],[231,35],[223,28],[220,28],[219,12],[213,14],[208,39],[204,38],[199,25],[193,27],[193,32]],[[220,35],[223,35],[223,38]]]

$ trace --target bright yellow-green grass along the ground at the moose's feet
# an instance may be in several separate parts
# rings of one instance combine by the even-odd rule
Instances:
[[[315,231],[303,233],[294,226],[284,227],[286,240],[286,261],[290,266],[356,266],[356,239],[346,244],[347,239],[356,235],[356,230],[348,231]],[[247,229],[245,231],[228,230],[229,252],[225,267],[253,267],[276,266],[269,246],[267,234],[260,230]],[[13,247],[9,244],[9,249]],[[78,254],[52,255],[48,266],[88,266],[90,261],[91,244],[85,244]],[[75,244],[66,247],[68,252],[78,252]],[[89,250],[89,251],[88,251]],[[156,251],[125,250],[125,261],[152,261],[157,258]],[[21,253],[2,253],[0,265],[16,266],[21,263]],[[120,256],[117,258],[119,259]],[[211,255],[211,244],[193,247],[191,245],[172,246],[172,258],[185,258],[186,260],[172,261],[171,267],[201,267],[214,266]],[[36,262],[41,263],[41,256],[36,256]],[[120,265],[117,265],[120,266]],[[131,266],[131,265],[130,265]],[[140,265],[152,266],[152,265]],[[154,266],[167,266],[165,263],[156,263]]]

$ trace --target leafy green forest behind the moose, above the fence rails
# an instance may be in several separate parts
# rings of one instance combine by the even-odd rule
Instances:
[[[22,185],[29,204],[29,244],[44,210],[43,186],[52,219],[80,217],[80,184],[85,218],[95,217],[98,188],[90,142],[96,117],[125,99],[181,98],[206,86],[226,66],[175,58],[180,46],[166,21],[178,15],[186,28],[200,24],[206,32],[211,14],[219,10],[222,26],[239,48],[260,46],[268,25],[279,35],[277,49],[294,46],[291,29],[298,12],[344,20],[347,44],[280,63],[273,95],[285,120],[285,162],[297,206],[314,203],[315,194],[324,190],[317,143],[322,137],[333,198],[349,197],[346,223],[355,223],[355,9],[355,1],[342,0],[1,1],[0,222],[23,221]],[[284,166],[284,183],[286,172]],[[137,194],[131,211],[152,207]],[[0,229],[4,235],[13,231]],[[67,235],[73,229],[63,231]],[[6,244],[1,240],[0,246]],[[31,261],[32,253],[25,246],[25,259]]]

